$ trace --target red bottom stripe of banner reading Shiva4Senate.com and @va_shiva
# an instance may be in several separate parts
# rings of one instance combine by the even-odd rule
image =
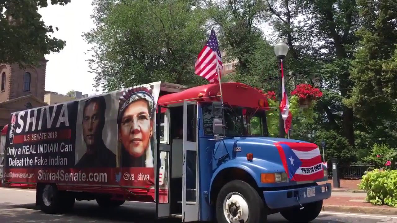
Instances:
[[[16,187],[34,185],[34,183],[59,183],[63,189],[104,192],[109,190],[125,189],[137,195],[147,195],[154,199],[154,168],[127,167],[127,168],[4,168],[4,182]],[[133,186],[139,188],[120,188],[109,186]],[[167,188],[160,191],[163,196],[160,202],[168,199]],[[168,202],[168,201],[166,201]]]

